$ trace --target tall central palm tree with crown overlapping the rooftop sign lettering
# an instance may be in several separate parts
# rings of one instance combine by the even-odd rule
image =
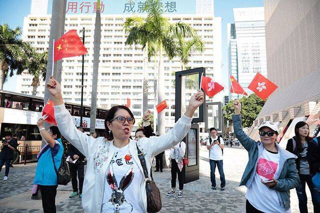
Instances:
[[[126,44],[141,44],[143,50],[148,52],[148,59],[152,56],[158,58],[158,103],[164,100],[164,89],[161,86],[164,85],[163,53],[172,59],[177,55],[176,40],[194,35],[194,30],[188,24],[170,23],[163,17],[163,6],[159,1],[146,0],[142,10],[147,16],[127,18],[124,23],[124,28],[129,32]],[[164,111],[158,115],[159,135],[164,134],[164,115]]]

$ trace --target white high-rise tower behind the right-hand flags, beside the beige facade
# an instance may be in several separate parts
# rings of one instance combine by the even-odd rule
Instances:
[[[233,8],[233,14],[235,32],[231,33],[232,25],[230,25],[231,31],[228,33],[228,56],[231,65],[229,75],[232,74],[249,95],[252,91],[247,87],[256,73],[260,72],[263,76],[267,76],[264,11],[263,7]],[[229,94],[230,99],[239,96],[241,95]]]

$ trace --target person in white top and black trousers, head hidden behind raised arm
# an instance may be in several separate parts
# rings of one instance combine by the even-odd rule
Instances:
[[[183,184],[184,184],[184,173],[185,166],[183,165],[182,159],[185,154],[185,143],[181,141],[173,148],[170,149],[170,165],[171,165],[171,191],[166,194],[168,197],[175,196],[175,182],[176,182],[176,174],[178,174],[179,181],[179,192],[177,194],[178,198],[182,198],[183,194]]]

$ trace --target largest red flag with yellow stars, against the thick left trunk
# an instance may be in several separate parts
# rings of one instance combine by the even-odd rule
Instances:
[[[54,61],[84,55],[87,52],[75,29],[66,32],[59,40],[54,41]]]

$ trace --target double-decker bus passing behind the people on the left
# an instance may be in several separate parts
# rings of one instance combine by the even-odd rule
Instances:
[[[80,105],[64,103],[65,108],[70,112],[73,123],[80,126]],[[29,147],[30,158],[36,157],[41,149],[41,136],[36,122],[41,118],[43,109],[43,98],[0,90],[0,138],[1,141],[7,132],[16,135],[19,143],[18,151],[24,152]],[[95,131],[98,136],[104,136],[104,118],[107,109],[97,108]],[[89,133],[90,128],[90,107],[83,106],[82,127],[84,132]],[[32,148],[31,148],[32,147]]]

